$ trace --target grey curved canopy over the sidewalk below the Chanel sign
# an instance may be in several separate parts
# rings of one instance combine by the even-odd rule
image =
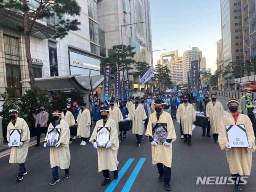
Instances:
[[[112,77],[113,79],[113,77]],[[104,81],[104,75],[92,76],[92,89],[95,90]],[[21,83],[30,83],[30,79],[21,81]],[[65,92],[78,90],[83,94],[91,92],[89,76],[64,75],[55,77],[35,78],[37,90],[56,91],[62,90]]]

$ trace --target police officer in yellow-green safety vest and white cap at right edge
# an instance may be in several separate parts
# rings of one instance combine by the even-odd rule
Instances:
[[[254,136],[256,136],[256,119],[253,113],[254,107],[252,106],[252,103],[255,102],[255,100],[252,100],[252,89],[244,89],[244,95],[240,99],[239,111],[250,118],[254,131]]]

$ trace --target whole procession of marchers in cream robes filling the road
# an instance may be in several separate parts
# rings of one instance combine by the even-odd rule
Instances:
[[[238,192],[242,190],[240,177],[250,175],[252,152],[256,149],[256,120],[252,106],[255,101],[251,98],[251,92],[251,89],[246,89],[240,101],[230,99],[227,102],[230,112],[226,115],[216,94],[206,93],[204,99],[198,102],[186,90],[180,95],[171,94],[167,104],[167,108],[171,108],[171,114],[164,111],[164,98],[158,95],[153,97],[151,104],[139,97],[130,98],[128,102],[116,98],[116,101],[112,99],[101,102],[100,105],[95,101],[91,111],[84,103],[79,106],[77,102],[69,101],[62,106],[62,111],[54,110],[53,121],[48,125],[49,114],[41,105],[40,112],[33,114],[37,128],[35,147],[40,146],[40,135],[43,132],[46,135],[44,147],[50,147],[53,176],[50,185],[54,185],[60,181],[58,167],[64,169],[66,178],[70,177],[69,144],[74,139],[81,139],[80,145],[85,146],[89,138],[89,142],[97,150],[98,171],[104,176],[101,185],[105,186],[111,182],[110,172],[113,172],[114,180],[118,178],[118,148],[121,140],[126,138],[126,131],[132,129],[132,134],[136,135],[136,145],[140,147],[145,126],[145,136],[152,145],[152,164],[156,164],[158,168],[158,181],[164,182],[165,190],[170,191],[172,143],[177,139],[173,120],[176,120],[180,125],[180,139],[188,146],[192,146],[194,126],[202,126],[202,136],[211,137],[212,130],[214,143],[218,143],[221,150],[226,151],[234,191]],[[30,132],[27,123],[18,114],[18,110],[9,111],[11,121],[8,124],[7,140],[11,147],[9,162],[19,164],[16,180],[21,181],[28,173],[25,161]],[[90,134],[92,124],[94,130]],[[77,127],[76,135],[70,132],[70,128],[74,126]],[[236,131],[242,131],[240,138],[232,138]]]

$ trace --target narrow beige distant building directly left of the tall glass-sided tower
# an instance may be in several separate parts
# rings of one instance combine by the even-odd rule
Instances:
[[[217,41],[217,58],[216,58],[217,70],[223,70],[223,49],[222,49],[222,39]],[[220,74],[220,78],[218,78],[218,90],[222,90],[223,88],[223,79],[222,74]]]

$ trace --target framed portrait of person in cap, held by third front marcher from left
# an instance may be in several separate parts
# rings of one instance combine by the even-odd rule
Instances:
[[[106,147],[110,140],[110,127],[98,127],[96,144],[97,147]]]

